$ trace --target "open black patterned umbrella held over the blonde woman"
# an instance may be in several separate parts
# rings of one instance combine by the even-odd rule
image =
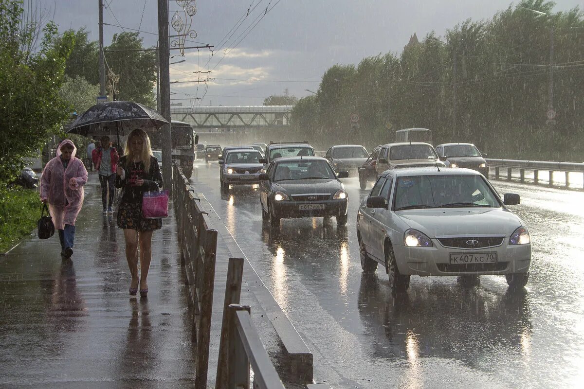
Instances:
[[[135,128],[157,131],[168,121],[152,108],[132,101],[109,101],[96,104],[71,124],[68,134],[84,136],[128,135]]]

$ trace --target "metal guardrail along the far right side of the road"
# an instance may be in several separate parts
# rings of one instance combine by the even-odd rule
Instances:
[[[491,167],[495,167],[495,178],[499,178],[500,169],[507,169],[507,180],[511,180],[513,169],[519,169],[519,178],[523,183],[525,181],[525,171],[533,170],[534,183],[539,182],[540,170],[550,172],[549,185],[554,184],[554,171],[563,171],[565,173],[565,185],[570,185],[570,173],[584,173],[584,163],[576,162],[555,162],[555,161],[530,161],[519,159],[492,159],[486,158],[486,162]]]

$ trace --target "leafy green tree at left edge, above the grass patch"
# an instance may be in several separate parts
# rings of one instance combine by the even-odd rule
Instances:
[[[22,169],[48,134],[62,130],[69,116],[59,89],[65,61],[75,37],[64,34],[55,45],[57,27],[41,30],[36,20],[23,17],[22,2],[0,0],[0,185]],[[41,37],[35,49],[34,41]]]

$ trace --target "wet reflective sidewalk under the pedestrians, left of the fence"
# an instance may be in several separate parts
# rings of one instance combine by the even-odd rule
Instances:
[[[172,205],[152,238],[148,299],[130,299],[123,233],[115,214],[102,215],[95,173],[85,194],[72,261],[61,260],[56,233],[48,240],[33,234],[0,257],[0,387],[193,387]],[[217,320],[214,314],[214,330]],[[211,348],[211,359],[216,354]]]

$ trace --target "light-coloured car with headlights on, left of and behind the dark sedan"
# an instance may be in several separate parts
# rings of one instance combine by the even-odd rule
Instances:
[[[258,184],[263,169],[263,163],[259,162],[261,157],[259,151],[252,148],[228,150],[223,159],[219,160],[221,188],[227,189],[229,185],[238,184]]]

